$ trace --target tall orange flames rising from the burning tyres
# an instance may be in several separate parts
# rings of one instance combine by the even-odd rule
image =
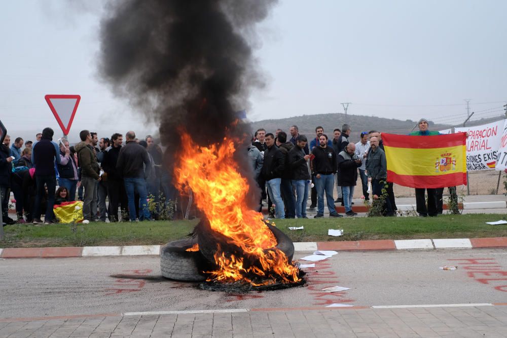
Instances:
[[[272,284],[276,279],[282,283],[298,282],[298,269],[275,248],[276,238],[264,223],[262,213],[247,205],[249,186],[233,159],[235,150],[234,142],[227,137],[220,145],[200,147],[189,134],[183,133],[178,166],[174,169],[177,186],[182,191],[192,190],[197,207],[204,212],[211,229],[240,247],[244,257],[256,257],[262,267],[244,268],[244,257],[222,252],[219,246],[214,255],[219,269],[210,272],[209,280],[244,280],[252,285]],[[252,273],[266,279],[258,284],[246,277]]]

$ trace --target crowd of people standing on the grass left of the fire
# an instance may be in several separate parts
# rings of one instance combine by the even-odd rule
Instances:
[[[157,219],[160,206],[175,198],[172,185],[163,184],[170,181],[169,173],[163,169],[162,150],[151,135],[139,140],[128,131],[123,145],[120,133],[98,139],[97,133],[82,130],[81,142],[74,146],[66,138],[57,143],[53,136],[54,131],[45,128],[34,142],[18,137],[10,146],[11,138],[6,135],[0,145],[5,224],[54,223],[53,206],[73,202],[76,195],[83,201],[83,217],[88,221]],[[8,215],[11,191],[17,220]],[[155,205],[151,211],[149,197]]]

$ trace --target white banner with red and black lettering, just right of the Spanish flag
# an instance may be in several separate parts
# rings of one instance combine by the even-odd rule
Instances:
[[[468,133],[466,139],[466,171],[494,169],[500,147],[504,120],[482,126],[455,128]]]

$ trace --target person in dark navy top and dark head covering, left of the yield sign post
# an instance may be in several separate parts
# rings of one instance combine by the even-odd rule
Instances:
[[[32,162],[35,168],[35,182],[37,183],[37,196],[35,197],[35,206],[33,212],[33,223],[42,223],[41,220],[41,202],[46,197],[46,185],[48,189],[48,203],[44,224],[53,223],[53,204],[56,191],[56,172],[55,161],[60,164],[60,149],[58,144],[53,142],[54,131],[51,128],[44,128],[41,140],[33,145]]]

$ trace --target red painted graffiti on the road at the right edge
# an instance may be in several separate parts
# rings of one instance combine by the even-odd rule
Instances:
[[[494,258],[458,258],[456,264],[463,265],[466,275],[479,283],[494,286],[495,290],[507,292],[507,271]],[[504,285],[498,285],[504,284]]]

